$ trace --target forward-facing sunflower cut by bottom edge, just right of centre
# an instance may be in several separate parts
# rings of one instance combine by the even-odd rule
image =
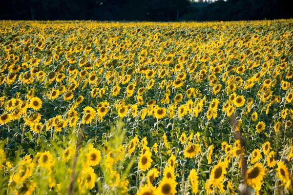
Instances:
[[[177,192],[176,185],[177,182],[174,179],[163,177],[155,191],[155,195],[175,195]]]

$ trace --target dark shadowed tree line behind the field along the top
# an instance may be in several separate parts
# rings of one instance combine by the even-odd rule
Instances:
[[[291,0],[1,0],[0,20],[263,20],[293,18]]]

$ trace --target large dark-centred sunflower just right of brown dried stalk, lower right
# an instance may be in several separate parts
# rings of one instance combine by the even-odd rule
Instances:
[[[250,186],[261,186],[263,177],[265,176],[265,169],[262,164],[255,163],[253,167],[251,167],[246,172],[246,183]]]

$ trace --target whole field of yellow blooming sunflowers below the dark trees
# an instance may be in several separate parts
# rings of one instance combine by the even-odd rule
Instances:
[[[0,21],[0,194],[293,194],[293,20]]]

